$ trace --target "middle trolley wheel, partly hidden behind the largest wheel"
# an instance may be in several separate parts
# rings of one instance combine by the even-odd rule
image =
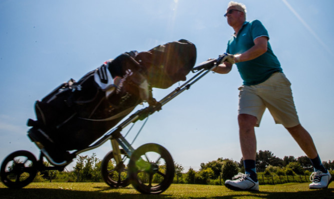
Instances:
[[[128,177],[129,158],[122,154],[122,161],[116,164],[113,151],[109,151],[102,160],[101,173],[103,180],[111,187],[126,187],[130,184]]]

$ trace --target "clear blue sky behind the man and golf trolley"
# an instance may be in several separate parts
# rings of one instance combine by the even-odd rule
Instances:
[[[223,17],[228,2],[2,0],[0,159],[19,149],[38,156],[37,146],[26,135],[27,119],[35,118],[35,100],[70,78],[78,80],[107,59],[181,38],[196,45],[197,64],[225,52],[233,33]],[[269,32],[272,49],[292,83],[301,124],[312,135],[321,160],[333,160],[334,1],[242,2],[247,6],[247,20],[259,19]],[[218,157],[239,161],[237,87],[241,83],[235,66],[228,74],[208,73],[151,115],[133,146],[162,144],[186,170]],[[154,96],[159,100],[178,85],[154,89]],[[258,150],[270,150],[280,158],[304,155],[268,111],[255,130]],[[135,134],[133,130],[128,140]],[[83,155],[95,152],[103,158],[109,150],[107,142]]]

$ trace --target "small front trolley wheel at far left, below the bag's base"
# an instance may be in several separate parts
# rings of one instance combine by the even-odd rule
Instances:
[[[17,150],[3,161],[1,181],[9,188],[22,188],[32,182],[37,173],[37,159],[27,150]]]

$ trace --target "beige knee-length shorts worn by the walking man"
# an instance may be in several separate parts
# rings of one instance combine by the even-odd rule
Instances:
[[[256,126],[259,126],[263,112],[268,108],[275,123],[281,123],[285,127],[298,125],[290,85],[284,73],[275,72],[262,83],[240,86],[238,113],[256,116]]]

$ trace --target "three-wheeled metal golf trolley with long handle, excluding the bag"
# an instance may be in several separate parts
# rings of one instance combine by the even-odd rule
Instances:
[[[141,193],[162,193],[170,186],[174,178],[175,168],[171,154],[166,148],[156,143],[146,143],[134,149],[121,134],[121,131],[130,123],[148,118],[150,114],[159,111],[164,104],[184,90],[189,89],[193,83],[202,78],[213,67],[223,62],[223,60],[224,55],[220,55],[217,59],[209,59],[194,67],[192,72],[196,72],[196,74],[192,78],[166,95],[155,105],[149,105],[138,110],[117,127],[106,132],[103,137],[92,145],[69,153],[64,161],[59,162],[53,159],[45,147],[34,139],[33,131],[38,129],[32,127],[28,131],[28,136],[41,149],[39,159],[36,159],[35,155],[27,150],[18,150],[9,154],[1,165],[1,180],[10,188],[22,188],[33,181],[38,171],[63,171],[80,153],[95,149],[110,140],[112,150],[103,158],[101,165],[104,181],[111,187],[125,187],[131,183]],[[45,166],[43,164],[44,157],[53,166]]]

